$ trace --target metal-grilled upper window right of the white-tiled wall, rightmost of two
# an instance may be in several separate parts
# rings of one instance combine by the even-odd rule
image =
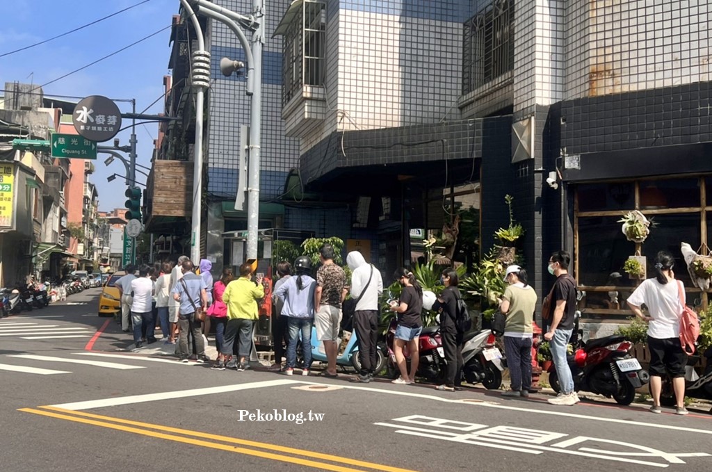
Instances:
[[[462,94],[514,68],[514,1],[494,0],[464,24]]]

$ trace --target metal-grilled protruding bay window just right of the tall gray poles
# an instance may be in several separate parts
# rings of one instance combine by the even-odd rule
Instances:
[[[282,105],[299,95],[304,85],[324,85],[326,3],[305,0],[284,35]]]

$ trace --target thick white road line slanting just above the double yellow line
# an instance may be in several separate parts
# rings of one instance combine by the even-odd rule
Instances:
[[[278,379],[265,380],[263,382],[251,382],[248,384],[223,385],[221,387],[205,387],[201,389],[178,390],[174,392],[160,392],[155,394],[131,395],[130,397],[116,397],[99,400],[89,400],[87,402],[73,402],[51,405],[52,407],[68,410],[85,410],[92,408],[116,407],[117,405],[129,405],[144,402],[156,402],[158,400],[171,400],[176,398],[199,397],[201,395],[217,394],[225,392],[238,392],[239,390],[261,389],[264,387],[277,387],[279,385],[290,385],[299,383],[295,380]]]

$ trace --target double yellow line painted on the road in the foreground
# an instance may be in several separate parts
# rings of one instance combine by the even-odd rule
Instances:
[[[231,438],[229,436],[221,436],[219,434],[210,434],[200,431],[191,431],[189,429],[172,428],[170,426],[162,426],[159,424],[142,423],[140,421],[132,421],[129,419],[115,418],[112,416],[85,413],[83,411],[73,411],[49,406],[37,408],[21,408],[19,409],[19,411],[38,414],[41,416],[49,416],[51,418],[56,419],[74,421],[75,423],[101,426],[103,428],[115,429],[117,431],[125,431],[127,433],[141,434],[142,436],[151,436],[153,438],[166,439],[168,441],[175,441],[183,444],[192,444],[193,446],[203,446],[210,449],[219,449],[220,451],[227,451],[245,454],[247,456],[271,459],[273,461],[281,461],[298,464],[300,466],[320,468],[325,471],[363,472],[364,470],[367,470],[385,472],[412,472],[410,469],[385,466],[372,462],[358,461],[352,458],[332,456],[330,454],[307,451],[305,449],[295,449],[286,446],[278,446],[276,444],[249,441],[247,439]],[[351,468],[348,466],[355,466],[359,468]]]

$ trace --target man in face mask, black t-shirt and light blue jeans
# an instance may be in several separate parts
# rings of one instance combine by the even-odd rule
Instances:
[[[551,357],[561,387],[557,397],[548,402],[567,406],[580,402],[567,360],[567,345],[574,330],[576,310],[576,280],[569,275],[570,262],[571,256],[567,251],[556,251],[549,258],[548,271],[556,277],[556,281],[551,290],[551,313],[542,315],[543,318],[549,315],[549,329],[544,333],[544,339],[550,343]]]

